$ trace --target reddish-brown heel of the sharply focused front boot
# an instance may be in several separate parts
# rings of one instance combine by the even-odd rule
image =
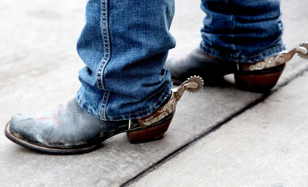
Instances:
[[[143,143],[162,138],[168,130],[172,118],[149,129],[127,132],[127,138],[130,143]]]

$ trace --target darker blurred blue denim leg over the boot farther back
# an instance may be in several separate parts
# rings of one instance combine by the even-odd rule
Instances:
[[[201,49],[237,62],[254,62],[284,51],[280,0],[201,0],[206,13]]]

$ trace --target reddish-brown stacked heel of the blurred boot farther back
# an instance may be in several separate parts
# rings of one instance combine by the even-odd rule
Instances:
[[[283,64],[262,71],[235,73],[235,85],[238,89],[244,91],[258,93],[268,92],[277,84],[284,67],[285,65]]]

